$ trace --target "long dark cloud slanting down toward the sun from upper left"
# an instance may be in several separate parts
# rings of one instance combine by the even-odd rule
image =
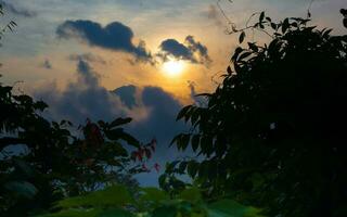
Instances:
[[[137,61],[152,63],[152,55],[146,51],[144,41],[133,44],[133,31],[119,22],[103,27],[92,21],[66,21],[57,27],[56,35],[65,39],[80,39],[91,47],[130,53]]]

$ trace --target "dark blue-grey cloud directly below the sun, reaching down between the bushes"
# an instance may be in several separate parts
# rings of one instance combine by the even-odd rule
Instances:
[[[128,90],[131,91],[131,89]],[[181,153],[176,146],[169,148],[172,138],[188,129],[182,122],[176,122],[176,116],[183,105],[159,87],[144,87],[140,92],[140,103],[149,113],[146,118],[132,123],[128,130],[142,141],[157,139],[158,145],[151,162],[162,165],[163,173],[167,162],[193,155],[192,151]],[[137,178],[143,186],[158,184],[156,171],[140,174]]]

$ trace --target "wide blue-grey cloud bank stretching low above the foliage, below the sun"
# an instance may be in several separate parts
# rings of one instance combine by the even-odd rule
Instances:
[[[35,98],[50,105],[49,117],[69,119],[75,125],[85,123],[87,117],[92,120],[133,117],[133,122],[126,127],[131,135],[142,142],[153,138],[158,141],[149,167],[159,163],[163,168],[166,162],[190,154],[169,148],[172,138],[187,130],[183,123],[176,122],[176,115],[183,105],[159,87],[139,88],[130,85],[108,91],[100,85],[100,77],[89,63],[79,60],[76,81],[68,84],[64,90],[48,85],[37,89]],[[139,112],[145,115],[138,115]],[[141,184],[157,186],[158,175],[152,171],[139,175],[138,178]]]

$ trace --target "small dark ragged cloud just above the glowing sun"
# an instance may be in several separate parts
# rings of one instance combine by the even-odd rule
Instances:
[[[187,36],[184,43],[176,39],[166,39],[159,46],[160,51],[156,54],[164,62],[170,58],[189,61],[194,64],[209,66],[211,60],[206,46],[196,41],[193,36]]]

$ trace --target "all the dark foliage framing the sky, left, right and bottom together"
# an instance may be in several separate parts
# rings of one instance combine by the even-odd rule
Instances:
[[[216,91],[201,94],[206,104],[178,114],[192,127],[172,144],[203,157],[167,164],[162,190],[132,178],[150,170],[156,141],[127,133],[131,118],[76,128],[44,118],[44,102],[0,84],[0,215],[346,216],[347,36],[309,22],[274,23],[262,12],[233,29],[241,44],[255,29],[270,42],[237,47]]]

